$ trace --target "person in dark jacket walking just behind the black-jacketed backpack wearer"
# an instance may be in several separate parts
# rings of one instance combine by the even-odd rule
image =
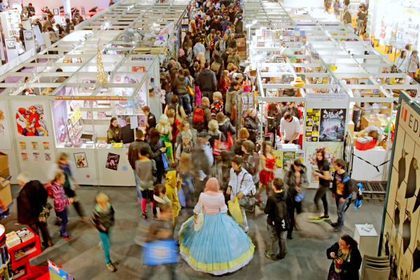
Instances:
[[[302,200],[297,197],[299,193],[302,193],[302,187],[309,186],[307,177],[307,167],[299,160],[295,160],[290,169],[284,174],[284,183],[288,186],[288,193],[293,198],[293,204],[295,205],[296,213],[299,215],[302,213]],[[295,227],[295,215],[290,216],[290,227],[288,229],[287,238],[293,239],[292,233]]]

